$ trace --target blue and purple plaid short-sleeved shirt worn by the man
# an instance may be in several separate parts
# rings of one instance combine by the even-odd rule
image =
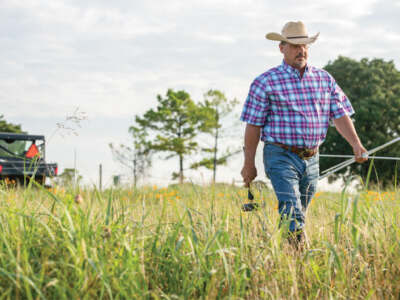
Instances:
[[[307,66],[300,78],[300,72],[283,61],[253,81],[240,119],[263,126],[264,142],[314,148],[324,141],[330,120],[353,113],[328,72]]]

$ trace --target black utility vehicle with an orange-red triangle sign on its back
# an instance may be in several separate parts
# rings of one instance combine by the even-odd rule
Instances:
[[[34,178],[44,184],[57,176],[57,164],[46,163],[43,135],[0,132],[0,180],[24,184]]]

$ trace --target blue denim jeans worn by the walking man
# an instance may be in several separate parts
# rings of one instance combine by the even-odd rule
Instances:
[[[264,167],[279,201],[281,222],[288,220],[291,232],[302,230],[307,206],[317,189],[318,153],[303,160],[289,150],[265,143]]]

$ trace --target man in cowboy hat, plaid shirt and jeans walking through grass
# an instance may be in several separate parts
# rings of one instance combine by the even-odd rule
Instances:
[[[295,244],[304,236],[305,212],[319,177],[318,147],[329,121],[353,147],[356,161],[367,160],[349,117],[354,113],[351,103],[328,72],[307,64],[309,44],[318,35],[309,37],[300,21],[286,23],[282,34],[266,35],[280,41],[283,62],[253,81],[241,115],[247,123],[243,180],[249,186],[257,176],[254,159],[261,138],[265,172]]]

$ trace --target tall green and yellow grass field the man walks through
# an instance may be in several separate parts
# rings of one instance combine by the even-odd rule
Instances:
[[[76,198],[77,194],[81,198]],[[229,185],[0,187],[0,299],[398,299],[400,192],[317,193],[309,246]]]

